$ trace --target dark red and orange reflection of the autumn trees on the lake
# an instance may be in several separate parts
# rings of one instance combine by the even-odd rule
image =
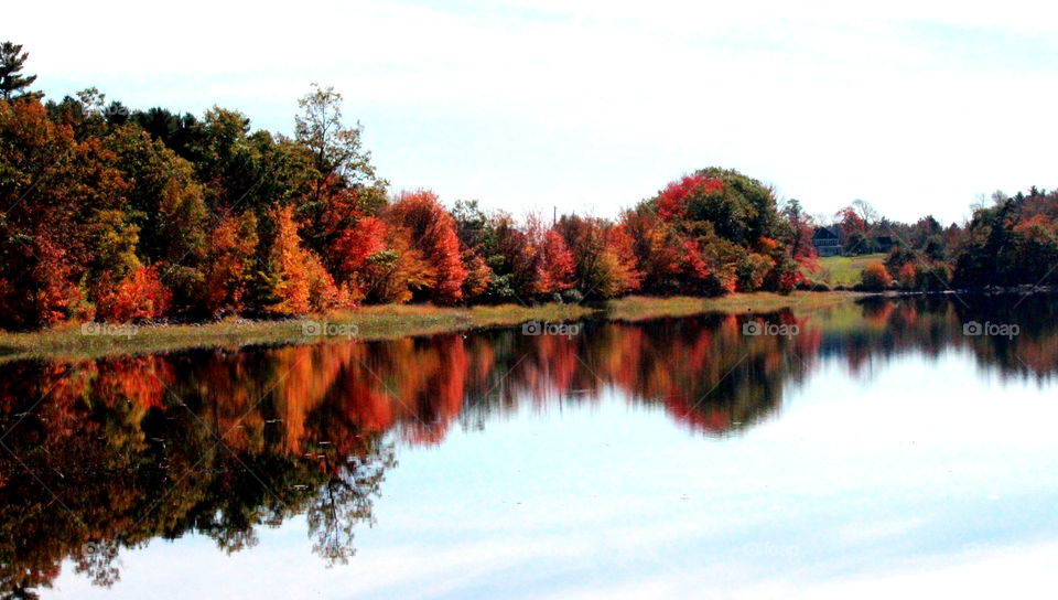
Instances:
[[[753,318],[796,324],[792,336],[747,336],[748,317],[704,315],[590,322],[575,336],[494,330],[4,364],[0,585],[32,596],[69,558],[107,586],[122,548],[194,532],[231,553],[302,514],[313,550],[342,562],[373,521],[395,444],[438,444],[454,426],[607,390],[722,438],[768,418],[820,361],[863,372],[910,351],[964,351],[1004,377],[1048,378],[1054,315],[1040,298],[875,300]],[[965,335],[970,321],[1021,333]]]

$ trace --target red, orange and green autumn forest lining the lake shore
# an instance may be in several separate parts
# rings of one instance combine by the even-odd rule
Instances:
[[[300,99],[287,136],[220,107],[45,98],[28,57],[0,45],[0,328],[787,292],[816,268],[820,219],[736,170],[693,171],[613,219],[516,218],[391,192],[330,87]],[[1058,194],[1035,188],[964,225],[893,223],[865,203],[835,216],[853,251],[895,239],[864,289],[927,290],[1051,282],[1056,217]]]

